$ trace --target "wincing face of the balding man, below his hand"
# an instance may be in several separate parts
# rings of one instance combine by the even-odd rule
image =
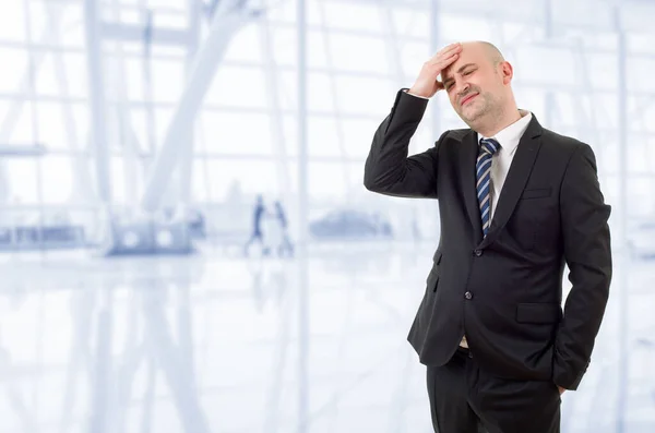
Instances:
[[[469,125],[502,105],[502,67],[495,67],[480,46],[465,45],[460,58],[441,72],[441,79],[451,105]]]

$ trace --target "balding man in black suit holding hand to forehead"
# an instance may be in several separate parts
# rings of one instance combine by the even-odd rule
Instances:
[[[368,190],[439,200],[440,243],[408,335],[439,433],[559,432],[560,395],[577,388],[608,299],[610,206],[594,153],[520,110],[512,76],[489,43],[445,47],[397,93],[366,161]],[[442,91],[469,128],[407,157]]]

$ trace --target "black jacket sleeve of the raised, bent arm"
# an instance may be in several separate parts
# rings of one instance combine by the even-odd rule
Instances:
[[[437,199],[439,144],[407,157],[409,140],[425,113],[428,99],[401,89],[391,113],[378,127],[364,169],[364,185],[377,193],[403,197]]]

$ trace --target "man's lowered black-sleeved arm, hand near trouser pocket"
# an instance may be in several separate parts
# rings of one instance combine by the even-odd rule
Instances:
[[[572,287],[557,333],[552,381],[565,389],[577,389],[605,314],[612,270],[610,212],[598,184],[594,152],[582,144],[571,156],[560,191],[563,252]]]

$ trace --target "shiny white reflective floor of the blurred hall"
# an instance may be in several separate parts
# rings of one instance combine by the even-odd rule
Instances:
[[[432,248],[1,256],[0,433],[431,432],[405,338]],[[655,262],[628,264],[563,432],[655,431]]]

